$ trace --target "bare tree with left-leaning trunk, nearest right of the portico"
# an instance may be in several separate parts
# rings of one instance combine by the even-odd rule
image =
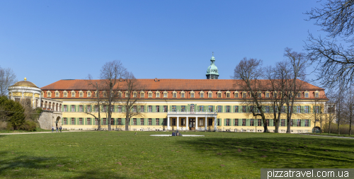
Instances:
[[[261,83],[263,70],[261,69],[261,64],[261,59],[247,59],[246,57],[241,59],[234,69],[234,79],[236,79],[234,86],[240,86],[243,90],[249,92],[251,96],[249,100],[249,104],[251,104],[250,112],[252,112],[253,117],[261,116],[264,132],[268,132],[262,103],[263,100],[262,98],[258,98],[258,93],[263,90],[263,84]],[[246,95],[246,98],[247,96],[248,95]],[[254,107],[256,107],[256,109],[254,109]]]

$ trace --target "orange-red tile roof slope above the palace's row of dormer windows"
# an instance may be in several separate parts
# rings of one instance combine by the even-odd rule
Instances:
[[[95,80],[100,81],[100,80]],[[241,80],[233,79],[137,79],[137,81],[145,86],[144,90],[243,90],[241,86],[234,86],[234,83],[241,83]],[[268,80],[262,80],[263,83],[268,83]],[[45,90],[95,90],[89,86],[88,80],[73,79],[59,80],[41,88]],[[270,90],[270,89],[269,89]],[[304,83],[302,90],[324,90],[310,83]]]

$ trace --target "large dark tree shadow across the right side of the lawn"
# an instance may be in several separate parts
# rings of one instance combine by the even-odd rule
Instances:
[[[178,144],[210,157],[239,159],[262,168],[352,168],[354,141],[314,137],[223,137],[178,140]]]

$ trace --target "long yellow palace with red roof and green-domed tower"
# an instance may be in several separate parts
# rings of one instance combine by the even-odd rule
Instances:
[[[210,62],[207,79],[137,79],[145,89],[135,91],[134,97],[139,100],[133,110],[140,110],[142,114],[131,118],[130,130],[263,132],[262,120],[260,117],[253,117],[249,105],[246,104],[250,94],[235,86],[235,80],[218,79],[215,57]],[[302,89],[295,102],[292,132],[312,132],[315,127],[312,120],[315,110],[317,113],[318,110],[326,110],[321,104],[328,99],[319,99],[319,96],[324,96],[324,88],[305,83]],[[114,105],[113,119],[108,121],[106,107],[94,105],[97,91],[86,80],[60,80],[40,90],[40,95],[38,91],[30,97],[31,103],[46,111],[62,114],[55,117],[55,120],[50,120],[51,125],[59,125],[64,129],[95,130],[98,128],[98,120],[86,112],[94,114],[100,110],[101,128],[107,129],[110,122],[112,129],[125,129],[124,106]],[[10,88],[9,91],[13,99],[23,96],[22,93],[12,92]],[[123,90],[121,92],[124,93]],[[266,100],[271,99],[273,93],[270,90],[260,91],[258,95]],[[314,105],[314,100],[319,101],[317,105]],[[268,129],[273,132],[275,123],[270,106],[265,105],[265,116],[268,118]],[[281,118],[279,132],[286,132],[285,114]]]

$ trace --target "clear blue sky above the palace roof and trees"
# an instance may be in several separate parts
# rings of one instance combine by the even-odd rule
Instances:
[[[301,52],[319,27],[316,1],[0,1],[0,67],[42,87],[98,79],[119,59],[138,79],[205,79],[212,52],[219,79],[243,57],[273,65]],[[308,69],[307,72],[311,72]],[[309,79],[314,78],[313,75]]]

